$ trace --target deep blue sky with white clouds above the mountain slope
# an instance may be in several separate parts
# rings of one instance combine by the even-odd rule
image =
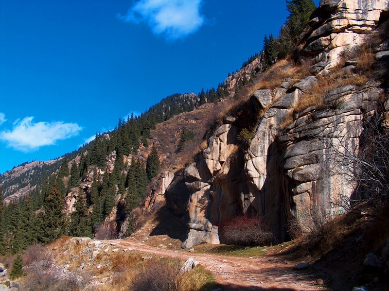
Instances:
[[[217,87],[287,15],[285,0],[2,0],[0,173]]]

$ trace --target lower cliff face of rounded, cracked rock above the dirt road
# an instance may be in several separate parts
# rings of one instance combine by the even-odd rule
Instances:
[[[363,121],[375,113],[383,89],[375,83],[340,87],[325,97],[329,105],[325,109],[294,112],[304,98],[301,89],[309,89],[316,81],[313,77],[296,80],[268,108],[258,97],[268,100],[280,88],[256,92],[247,106],[252,108],[256,101],[257,112],[265,113],[248,144],[238,140],[240,125],[246,124],[243,117],[216,129],[208,148],[182,177],[181,185],[190,193],[186,207],[190,231],[183,248],[218,243],[219,222],[243,213],[259,216],[280,242],[289,238],[288,221],[307,219],[313,205],[328,216],[344,211],[340,199],[350,197],[354,185],[348,180],[350,172],[332,173],[328,145],[342,139],[345,149],[358,148]],[[281,128],[290,116],[291,124]]]

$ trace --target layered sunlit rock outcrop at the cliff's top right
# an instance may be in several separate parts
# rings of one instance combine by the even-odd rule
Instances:
[[[322,0],[312,14],[301,58],[313,60],[311,72],[326,72],[344,51],[363,43],[388,18],[389,0]]]

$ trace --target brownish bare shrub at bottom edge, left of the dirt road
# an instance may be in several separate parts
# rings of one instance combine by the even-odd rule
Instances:
[[[128,290],[137,291],[180,291],[181,262],[173,259],[147,260],[136,274]]]

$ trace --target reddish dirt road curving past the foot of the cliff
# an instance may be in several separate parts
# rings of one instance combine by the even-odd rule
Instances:
[[[312,291],[325,290],[318,286],[314,272],[308,269],[296,270],[295,265],[283,257],[229,257],[213,254],[196,254],[188,251],[166,250],[130,240],[109,240],[108,243],[126,249],[175,257],[187,260],[192,257],[211,272],[224,291],[237,290],[277,290]]]

